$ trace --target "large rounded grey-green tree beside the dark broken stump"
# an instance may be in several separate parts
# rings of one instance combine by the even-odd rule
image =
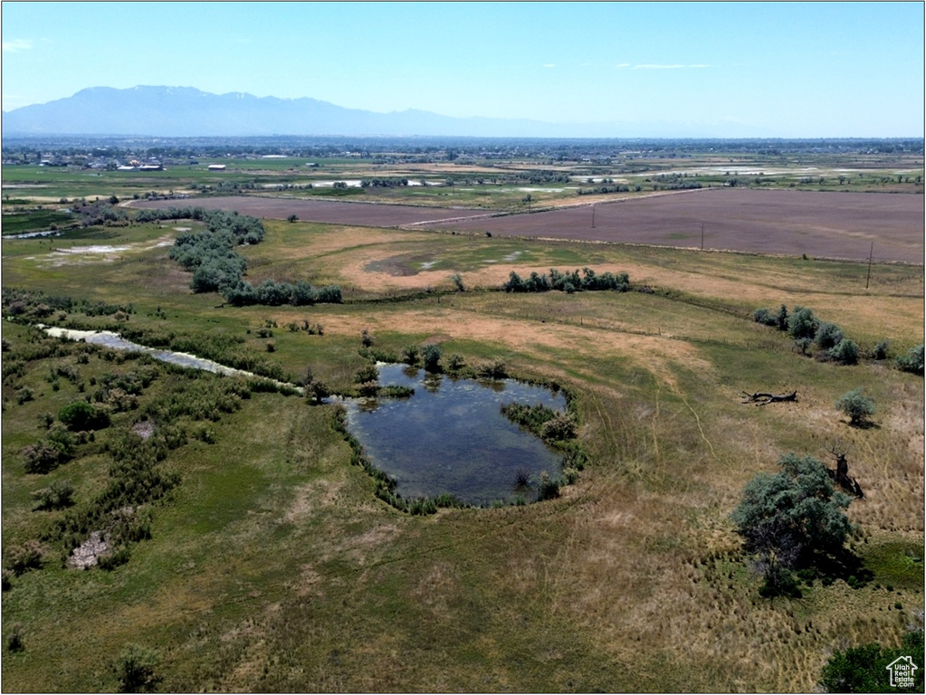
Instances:
[[[825,465],[795,453],[778,463],[780,473],[761,473],[746,483],[731,515],[745,551],[758,555],[767,587],[780,583],[779,566],[791,570],[842,552],[852,530],[843,512],[851,498],[833,490]]]

